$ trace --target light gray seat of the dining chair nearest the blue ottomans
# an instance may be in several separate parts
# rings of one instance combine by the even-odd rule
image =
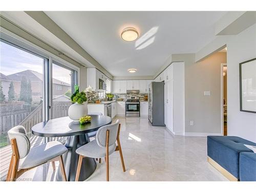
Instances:
[[[109,146],[109,155],[116,150],[116,144]],[[106,156],[106,148],[98,145],[96,139],[76,150],[76,153],[85,157],[103,158]]]

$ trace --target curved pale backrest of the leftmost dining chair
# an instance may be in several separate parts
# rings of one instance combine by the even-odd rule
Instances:
[[[8,131],[9,139],[16,139],[19,158],[26,157],[30,150],[30,141],[26,134],[26,130],[22,125],[14,126]]]

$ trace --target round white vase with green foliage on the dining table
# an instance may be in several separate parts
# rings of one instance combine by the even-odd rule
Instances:
[[[72,94],[70,99],[74,104],[69,106],[69,118],[74,122],[79,122],[80,117],[88,114],[86,93],[84,91],[79,92],[79,86],[75,85],[75,93]]]

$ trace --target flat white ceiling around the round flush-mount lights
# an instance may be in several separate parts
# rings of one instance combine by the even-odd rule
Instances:
[[[170,54],[196,53],[213,40],[214,24],[226,12],[45,13],[113,76],[152,76]],[[122,40],[125,27],[136,28],[139,39]]]

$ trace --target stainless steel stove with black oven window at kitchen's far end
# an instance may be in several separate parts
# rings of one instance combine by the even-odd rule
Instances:
[[[139,97],[130,97],[125,102],[125,116],[139,117],[140,116],[140,100]]]

